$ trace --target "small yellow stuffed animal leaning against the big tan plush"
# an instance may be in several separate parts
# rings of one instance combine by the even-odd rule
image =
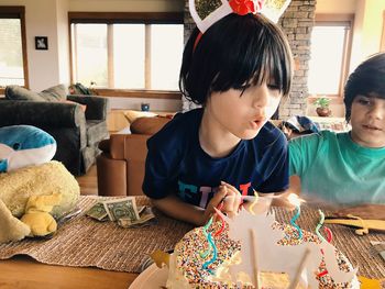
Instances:
[[[26,202],[25,213],[20,219],[31,229],[29,236],[45,236],[56,232],[57,223],[50,212],[61,201],[62,194],[57,192],[51,196],[30,197]]]

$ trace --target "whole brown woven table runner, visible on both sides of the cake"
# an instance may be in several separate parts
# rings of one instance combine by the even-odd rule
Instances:
[[[96,197],[81,197],[79,207],[87,211]],[[99,197],[100,199],[100,197]],[[136,197],[140,205],[148,204],[145,197]],[[294,212],[275,209],[276,219],[288,223]],[[326,212],[327,214],[327,212]],[[169,251],[193,229],[191,225],[169,219],[158,212],[157,224],[142,229],[121,229],[116,223],[100,223],[82,214],[59,226],[51,240],[23,240],[0,245],[0,259],[25,254],[37,262],[74,267],[94,266],[107,270],[140,273],[142,263],[155,249]],[[297,224],[315,232],[319,213],[301,207]],[[328,224],[333,232],[332,244],[359,267],[359,275],[367,278],[384,278],[385,262],[375,253],[370,241],[385,242],[385,234],[371,232],[358,236],[354,229]]]

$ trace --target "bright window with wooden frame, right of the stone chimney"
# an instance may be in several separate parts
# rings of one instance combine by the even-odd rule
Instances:
[[[343,96],[349,73],[353,16],[317,15],[311,32],[308,88],[310,95]]]

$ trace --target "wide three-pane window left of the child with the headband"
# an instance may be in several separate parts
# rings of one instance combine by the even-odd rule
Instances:
[[[111,90],[178,90],[183,14],[108,14],[69,13],[73,82]]]

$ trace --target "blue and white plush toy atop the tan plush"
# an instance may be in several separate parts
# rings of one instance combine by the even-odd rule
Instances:
[[[50,162],[56,153],[52,135],[32,125],[0,127],[0,173]]]

